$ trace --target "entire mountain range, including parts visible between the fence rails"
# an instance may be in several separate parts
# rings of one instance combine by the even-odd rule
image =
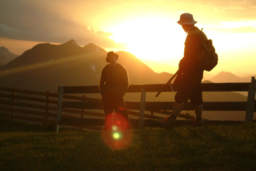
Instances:
[[[5,48],[6,49],[6,48]],[[130,84],[164,84],[173,74],[156,73],[149,66],[126,51],[115,52],[119,55],[118,63],[125,66]],[[95,44],[78,46],[76,41],[69,40],[64,44],[37,44],[15,57],[9,63],[0,66],[0,86],[16,87],[25,90],[58,92],[58,86],[90,86],[98,85],[101,69],[106,62],[107,51]],[[220,72],[203,83],[250,82],[251,76],[238,77],[230,72]],[[254,75],[256,76],[256,75]],[[162,93],[156,98],[156,93],[147,93],[146,101],[174,101],[171,92]],[[91,96],[91,95],[90,95]],[[100,94],[91,97],[101,98]],[[204,101],[246,101],[246,94],[236,92],[204,92]],[[139,101],[139,93],[125,95],[127,101]],[[232,112],[231,112],[232,113]],[[212,115],[211,111],[204,114],[208,119],[243,120],[244,112],[230,116],[230,112]],[[224,117],[224,118],[223,118]]]

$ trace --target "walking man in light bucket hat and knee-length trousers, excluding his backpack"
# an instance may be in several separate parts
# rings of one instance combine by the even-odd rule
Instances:
[[[200,31],[194,24],[193,15],[183,13],[180,15],[180,20],[177,22],[182,26],[187,34],[184,48],[184,57],[180,60],[178,75],[174,81],[174,86],[177,88],[175,95],[175,103],[173,111],[163,121],[156,120],[156,123],[166,129],[172,129],[175,126],[175,121],[184,107],[184,104],[190,99],[195,109],[196,119],[194,126],[202,125],[202,87],[201,81],[204,70],[197,62],[197,55],[200,51],[200,45],[204,39],[204,33]]]

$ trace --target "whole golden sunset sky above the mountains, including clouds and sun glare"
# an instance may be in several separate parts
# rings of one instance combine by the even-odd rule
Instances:
[[[256,74],[256,0],[0,0],[0,46],[14,54],[38,43],[93,43],[134,54],[155,72],[173,73],[193,14],[219,55],[211,71]]]

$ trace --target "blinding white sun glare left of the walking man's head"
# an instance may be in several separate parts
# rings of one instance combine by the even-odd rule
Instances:
[[[180,59],[186,38],[183,29],[171,18],[137,18],[110,29],[115,42],[127,44],[126,51],[141,59],[164,61]]]

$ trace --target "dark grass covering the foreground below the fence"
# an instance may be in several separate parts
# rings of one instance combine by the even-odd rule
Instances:
[[[188,126],[134,130],[128,147],[117,150],[104,143],[100,131],[56,134],[0,120],[0,170],[255,170],[255,123],[191,131]]]

